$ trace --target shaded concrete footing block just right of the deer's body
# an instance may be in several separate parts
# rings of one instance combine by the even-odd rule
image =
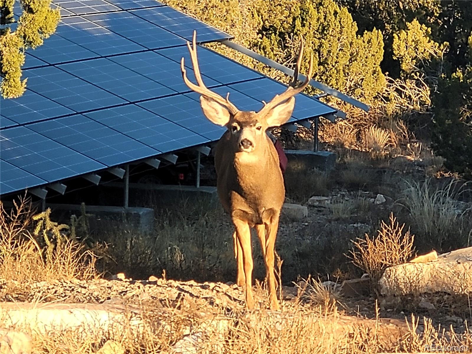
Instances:
[[[336,154],[329,151],[285,150],[285,154],[288,159],[287,169],[294,168],[309,171],[316,168],[329,171],[336,164]]]

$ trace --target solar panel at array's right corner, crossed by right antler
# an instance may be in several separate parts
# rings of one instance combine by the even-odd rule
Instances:
[[[283,93],[287,89],[285,85],[269,78],[232,84],[229,85],[229,87],[254,97],[257,100],[266,102],[272,100],[276,94]],[[295,120],[299,120],[334,112],[336,112],[336,110],[328,105],[299,93],[295,96],[295,109],[292,117],[295,118]]]

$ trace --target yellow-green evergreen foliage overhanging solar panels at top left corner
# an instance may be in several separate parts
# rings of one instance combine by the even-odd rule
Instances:
[[[21,79],[24,51],[40,46],[45,38],[56,31],[60,20],[59,9],[51,8],[51,0],[20,0],[23,13],[15,23],[14,2],[0,0],[0,90],[5,98],[19,97],[25,92],[26,79]]]

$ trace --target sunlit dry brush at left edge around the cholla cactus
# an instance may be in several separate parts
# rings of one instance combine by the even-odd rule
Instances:
[[[1,278],[17,287],[38,281],[97,276],[94,254],[77,240],[67,238],[64,229],[49,219],[49,213],[34,215],[28,198],[14,202],[9,212],[0,202]],[[54,232],[58,232],[59,242]]]

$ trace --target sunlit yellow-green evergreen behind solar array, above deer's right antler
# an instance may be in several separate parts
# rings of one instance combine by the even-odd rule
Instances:
[[[315,80],[368,102],[384,89],[382,34],[376,29],[357,34],[347,8],[334,0],[263,1],[257,15],[259,49],[269,58],[293,63],[298,46],[292,42],[302,35],[307,48],[302,70],[313,53]]]

